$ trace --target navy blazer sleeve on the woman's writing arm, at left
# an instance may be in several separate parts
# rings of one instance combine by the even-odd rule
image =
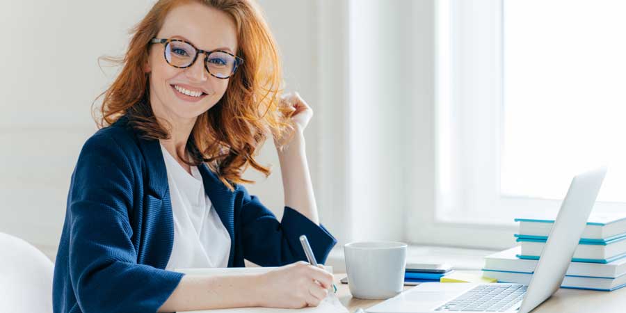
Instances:
[[[91,137],[72,175],[70,280],[77,303],[90,312],[157,312],[183,274],[137,264],[131,241],[131,163],[106,134]]]

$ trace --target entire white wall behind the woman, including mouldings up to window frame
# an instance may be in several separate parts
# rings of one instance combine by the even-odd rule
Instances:
[[[423,212],[435,204],[433,1],[259,0],[287,90],[315,112],[307,157],[321,222],[339,249],[353,240],[406,240],[431,220]],[[54,257],[70,175],[95,131],[91,103],[115,75],[97,58],[125,51],[127,31],[151,3],[3,3],[0,35],[13,45],[0,49],[0,232]],[[258,180],[248,189],[280,218],[272,141],[259,161],[272,164],[273,175],[247,172]]]

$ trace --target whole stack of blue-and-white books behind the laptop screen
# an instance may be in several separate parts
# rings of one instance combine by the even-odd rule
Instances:
[[[529,284],[554,220],[516,218],[520,246],[485,257],[483,275]],[[613,291],[626,286],[626,215],[592,214],[561,284],[563,288]]]

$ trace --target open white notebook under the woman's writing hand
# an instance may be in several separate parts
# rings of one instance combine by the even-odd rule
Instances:
[[[265,273],[275,267],[234,267],[234,268],[177,268],[175,271],[186,273],[187,275],[239,275],[252,273]],[[332,267],[325,266],[326,271],[332,273]],[[339,298],[329,292],[328,296],[316,307],[305,307],[303,309],[276,309],[272,307],[238,307],[233,309],[186,311],[189,313],[348,313],[348,309],[339,302]]]

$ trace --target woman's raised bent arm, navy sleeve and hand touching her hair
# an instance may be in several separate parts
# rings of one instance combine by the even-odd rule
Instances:
[[[284,149],[278,150],[282,180],[284,185],[284,214],[280,223],[255,195],[241,185],[240,221],[243,257],[260,266],[277,266],[307,259],[299,237],[307,235],[317,262],[323,264],[332,246],[337,241],[319,223],[313,187],[307,166],[305,141],[302,130],[312,116],[311,109],[298,95],[287,98],[284,103],[296,102],[291,114],[296,132],[285,134],[284,138],[274,138],[277,147],[290,139]]]

